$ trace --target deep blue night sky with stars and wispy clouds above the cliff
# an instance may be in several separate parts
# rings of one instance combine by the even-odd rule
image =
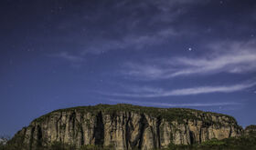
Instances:
[[[0,135],[120,103],[256,124],[255,0],[1,0],[0,12]]]

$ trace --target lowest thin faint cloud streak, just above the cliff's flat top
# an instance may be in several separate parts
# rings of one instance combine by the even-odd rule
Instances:
[[[128,103],[135,105],[153,105],[153,106],[165,106],[165,107],[206,107],[206,106],[227,106],[227,105],[242,105],[240,103],[235,102],[224,102],[224,103],[186,103],[186,104],[172,104],[172,103],[154,103],[154,102],[141,102],[141,101],[128,101],[128,100],[118,100],[118,99],[110,99],[111,102],[117,103]]]

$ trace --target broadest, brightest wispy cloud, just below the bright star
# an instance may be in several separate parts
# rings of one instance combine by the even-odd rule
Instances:
[[[255,41],[226,42],[206,46],[210,53],[196,58],[158,58],[146,63],[126,63],[125,75],[142,79],[166,79],[181,75],[243,74],[256,70]]]

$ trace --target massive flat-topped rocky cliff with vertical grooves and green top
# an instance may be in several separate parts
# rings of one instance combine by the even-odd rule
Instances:
[[[96,105],[43,115],[19,131],[13,141],[30,148],[51,145],[112,145],[115,149],[156,149],[239,136],[228,115],[182,108]]]

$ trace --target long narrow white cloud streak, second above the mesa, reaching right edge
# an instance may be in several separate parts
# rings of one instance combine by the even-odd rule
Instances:
[[[180,96],[180,95],[201,95],[211,93],[232,93],[241,91],[252,86],[256,83],[243,83],[240,85],[219,85],[219,86],[196,86],[190,88],[181,88],[174,90],[166,90],[162,88],[151,87],[137,87],[132,88],[133,93],[129,94],[103,94],[112,96],[128,96],[128,97],[166,97],[166,96]],[[129,89],[128,89],[129,90]]]

